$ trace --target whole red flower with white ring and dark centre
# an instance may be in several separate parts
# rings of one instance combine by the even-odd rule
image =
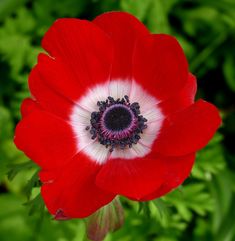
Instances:
[[[146,201],[179,186],[221,123],[194,103],[175,38],[121,12],[59,19],[29,76],[15,143],[40,167],[57,219],[86,217],[117,194]]]

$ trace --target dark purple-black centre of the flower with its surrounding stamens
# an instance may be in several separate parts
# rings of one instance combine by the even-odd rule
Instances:
[[[127,95],[114,100],[108,97],[98,101],[99,111],[91,113],[90,123],[86,130],[90,131],[91,139],[110,148],[131,148],[141,139],[141,133],[147,128],[147,119],[140,115],[139,103],[130,103]]]

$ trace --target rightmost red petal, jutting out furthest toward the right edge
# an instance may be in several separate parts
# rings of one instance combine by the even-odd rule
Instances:
[[[220,124],[216,107],[199,100],[164,120],[153,149],[170,156],[195,152],[209,142]]]

